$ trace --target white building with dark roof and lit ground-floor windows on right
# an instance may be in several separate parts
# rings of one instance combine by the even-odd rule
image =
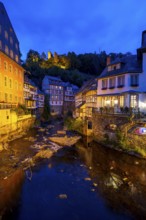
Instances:
[[[137,55],[129,55],[107,64],[98,78],[97,107],[122,108],[146,113],[146,31]]]

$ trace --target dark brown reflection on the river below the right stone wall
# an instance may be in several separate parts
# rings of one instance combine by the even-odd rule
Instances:
[[[94,142],[80,141],[77,150],[108,206],[132,213],[136,219],[145,219],[146,161]]]

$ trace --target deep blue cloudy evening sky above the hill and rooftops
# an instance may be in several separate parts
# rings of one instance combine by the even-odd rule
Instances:
[[[20,42],[29,49],[66,54],[132,52],[146,29],[145,0],[3,0]]]

